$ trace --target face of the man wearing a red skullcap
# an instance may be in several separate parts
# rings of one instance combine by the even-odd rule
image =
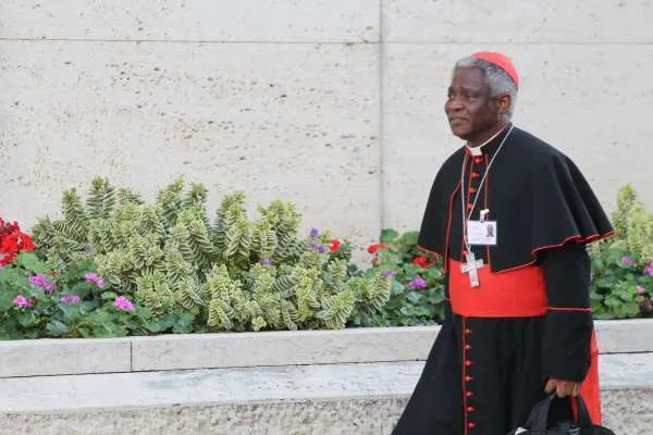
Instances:
[[[477,67],[458,70],[448,88],[444,112],[452,133],[475,140],[494,133],[501,121],[501,108],[491,97],[484,73]]]

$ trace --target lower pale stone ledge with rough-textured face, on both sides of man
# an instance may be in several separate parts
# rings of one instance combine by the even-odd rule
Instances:
[[[646,434],[653,353],[601,357],[604,420]],[[423,362],[0,380],[3,433],[386,434]],[[99,394],[101,393],[101,394]]]

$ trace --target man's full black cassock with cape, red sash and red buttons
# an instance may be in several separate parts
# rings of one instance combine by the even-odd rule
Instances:
[[[531,134],[507,126],[481,151],[456,151],[431,189],[419,246],[444,259],[447,314],[395,435],[505,435],[527,420],[550,377],[584,380],[600,420],[586,244],[612,225],[577,166]],[[475,221],[486,209],[496,222],[496,245],[471,246],[485,264],[473,288],[458,276],[463,208]]]

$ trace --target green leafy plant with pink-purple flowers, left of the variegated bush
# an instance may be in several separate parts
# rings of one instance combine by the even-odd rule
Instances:
[[[20,253],[0,271],[0,339],[143,334],[143,309],[119,307],[93,269],[87,259],[57,271]]]

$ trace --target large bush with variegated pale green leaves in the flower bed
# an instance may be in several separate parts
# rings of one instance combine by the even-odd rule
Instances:
[[[133,297],[150,315],[148,327],[161,332],[177,321],[196,331],[342,328],[387,300],[391,279],[354,276],[348,244],[329,234],[301,237],[292,203],[259,207],[251,221],[235,192],[210,223],[206,199],[202,185],[185,191],[180,178],[149,204],[98,178],[86,202],[64,192],[63,219],[41,219],[34,237],[54,264],[90,256],[113,290]]]

